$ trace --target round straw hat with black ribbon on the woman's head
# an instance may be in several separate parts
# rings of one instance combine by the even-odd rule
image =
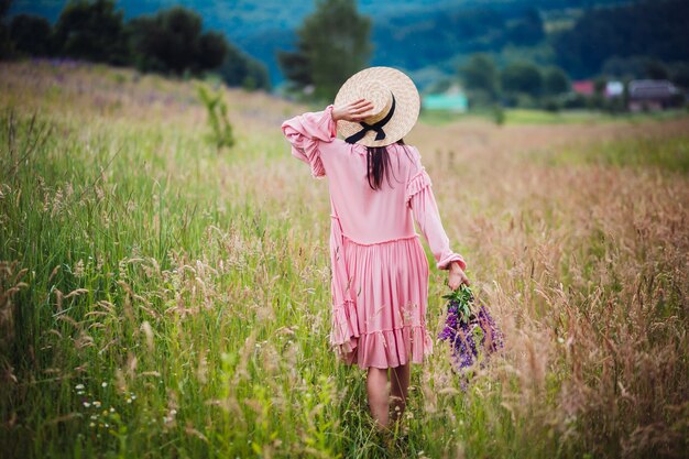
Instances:
[[[339,120],[337,129],[349,143],[384,146],[404,138],[416,124],[420,100],[414,81],[392,67],[370,67],[352,75],[340,88],[333,105],[359,99],[373,103],[372,116],[362,122]]]

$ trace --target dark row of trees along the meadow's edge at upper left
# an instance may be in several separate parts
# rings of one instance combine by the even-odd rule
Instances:
[[[217,70],[229,86],[271,87],[265,66],[228,43],[225,34],[204,32],[201,17],[182,7],[125,23],[113,0],[77,0],[65,6],[54,28],[43,18],[18,14],[9,25],[0,22],[0,56],[18,54],[133,65],[178,76]]]

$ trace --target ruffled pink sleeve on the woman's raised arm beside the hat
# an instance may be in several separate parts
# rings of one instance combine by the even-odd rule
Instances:
[[[326,170],[318,145],[320,142],[332,142],[337,136],[332,105],[324,111],[307,112],[283,122],[282,131],[292,144],[292,155],[307,163],[315,178],[324,177]]]

